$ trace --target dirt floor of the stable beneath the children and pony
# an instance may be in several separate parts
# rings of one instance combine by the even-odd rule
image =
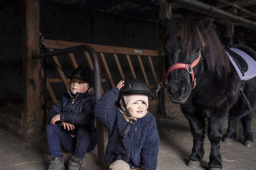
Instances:
[[[191,169],[186,166],[193,144],[188,120],[180,112],[179,106],[173,107],[175,107],[175,111],[172,110],[172,114],[169,115],[173,118],[157,118],[157,126],[161,138],[158,169]],[[253,139],[256,141],[255,112],[253,116],[252,131]],[[6,118],[6,113],[0,113],[0,123],[7,121]],[[205,134],[205,136],[207,135]],[[42,141],[42,143],[42,145],[46,145],[46,140]],[[27,145],[20,138],[17,138],[17,135],[14,135],[10,129],[6,128],[6,126],[1,127],[0,124],[0,169],[47,169],[47,154],[42,152],[42,148]],[[209,162],[211,147],[207,138],[205,138],[204,149],[204,159],[198,169],[209,169],[207,163]],[[65,159],[68,160],[70,155],[71,153],[65,153]],[[247,148],[239,142],[233,144],[221,143],[221,155],[223,170],[256,169],[255,147]],[[95,148],[93,152],[86,154],[82,169],[108,169],[108,164],[97,163],[97,148]]]

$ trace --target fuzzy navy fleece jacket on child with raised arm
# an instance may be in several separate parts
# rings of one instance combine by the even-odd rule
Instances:
[[[118,88],[113,88],[106,92],[94,109],[95,117],[109,130],[105,160],[108,163],[124,160],[130,167],[155,170],[159,149],[156,118],[148,112],[136,122],[128,123],[120,110],[115,107],[119,91]],[[131,129],[127,138],[124,138],[122,132],[127,124],[131,124]]]

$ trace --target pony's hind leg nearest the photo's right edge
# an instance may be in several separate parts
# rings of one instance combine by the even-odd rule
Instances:
[[[251,147],[253,145],[253,136],[251,131],[252,111],[241,118],[244,130],[244,145]]]

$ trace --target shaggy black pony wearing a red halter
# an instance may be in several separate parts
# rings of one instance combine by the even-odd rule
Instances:
[[[256,107],[256,77],[244,81],[239,78],[212,21],[212,18],[160,20],[168,95],[173,103],[180,104],[193,134],[188,166],[198,167],[202,162],[207,118],[211,142],[209,167],[214,169],[222,168],[220,141],[226,120],[229,120],[226,138],[236,138],[235,121],[241,118],[244,144],[253,145],[251,120]],[[234,47],[256,59],[252,48]]]

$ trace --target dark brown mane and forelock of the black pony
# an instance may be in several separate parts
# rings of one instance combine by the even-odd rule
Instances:
[[[176,29],[172,29],[171,36],[180,35],[180,47],[184,55],[188,55],[192,50],[196,50],[196,45],[200,45],[202,56],[205,59],[207,69],[224,69],[226,73],[230,71],[230,61],[220,41],[216,31],[216,26],[211,25],[207,32],[202,32],[202,20],[188,18],[180,22]],[[178,32],[177,32],[178,31]],[[172,38],[176,39],[176,38]]]

